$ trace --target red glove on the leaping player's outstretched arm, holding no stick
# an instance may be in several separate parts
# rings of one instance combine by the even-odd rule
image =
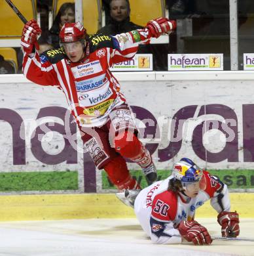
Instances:
[[[162,33],[171,33],[176,28],[175,20],[168,20],[168,18],[156,18],[150,20],[145,26],[151,34],[151,37],[159,37]]]

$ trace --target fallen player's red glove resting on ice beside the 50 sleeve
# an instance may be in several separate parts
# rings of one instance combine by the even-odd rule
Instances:
[[[194,245],[212,242],[208,230],[196,221],[181,221],[178,230],[183,238]]]

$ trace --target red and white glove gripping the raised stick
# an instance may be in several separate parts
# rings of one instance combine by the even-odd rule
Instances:
[[[35,48],[39,50],[37,35],[40,33],[41,28],[37,24],[36,20],[29,20],[29,22],[25,24],[22,30],[21,45],[27,54],[32,53],[33,45],[35,45]]]

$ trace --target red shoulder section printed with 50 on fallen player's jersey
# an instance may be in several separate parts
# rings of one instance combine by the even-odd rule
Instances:
[[[160,221],[173,221],[177,213],[177,196],[172,191],[164,191],[153,199],[151,215]]]

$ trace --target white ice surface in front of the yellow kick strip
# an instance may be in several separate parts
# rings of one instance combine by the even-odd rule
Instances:
[[[197,219],[211,236],[220,236],[215,219]],[[242,219],[240,237],[254,238],[254,220]],[[82,219],[0,223],[1,256],[192,256],[254,255],[254,242],[211,245],[156,245],[136,219]]]

